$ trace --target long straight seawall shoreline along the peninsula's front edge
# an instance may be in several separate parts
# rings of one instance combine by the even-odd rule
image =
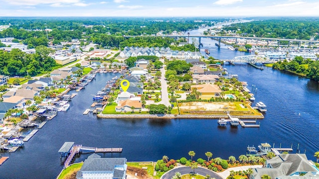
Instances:
[[[114,118],[151,118],[151,119],[219,119],[219,118],[228,118],[227,115],[182,115],[182,114],[97,114],[99,118],[105,119],[114,119]],[[239,119],[263,119],[262,116],[233,116]]]

